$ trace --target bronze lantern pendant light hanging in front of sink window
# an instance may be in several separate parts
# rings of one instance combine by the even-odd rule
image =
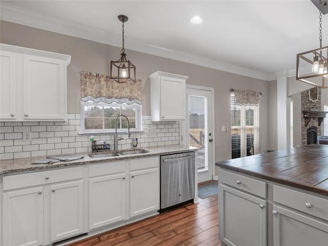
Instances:
[[[118,60],[111,61],[111,79],[118,83],[135,83],[135,66],[127,60],[124,48],[124,23],[128,21],[128,16],[121,14],[117,17],[122,22],[122,51]]]

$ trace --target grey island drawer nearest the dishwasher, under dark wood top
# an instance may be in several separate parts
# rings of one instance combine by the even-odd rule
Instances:
[[[219,181],[242,191],[267,198],[267,183],[220,169]]]

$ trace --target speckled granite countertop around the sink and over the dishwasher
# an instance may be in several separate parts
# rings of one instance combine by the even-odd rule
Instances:
[[[149,152],[142,153],[142,154],[135,154],[135,155],[115,156],[115,157],[106,157],[106,158],[91,158],[89,157],[89,153],[76,153],[75,156],[83,156],[83,158],[78,160],[71,160],[71,161],[57,161],[55,163],[48,163],[48,164],[32,164],[34,161],[47,158],[46,156],[1,160],[0,175],[16,174],[18,172],[42,171],[45,169],[78,166],[78,165],[84,165],[90,163],[99,163],[104,161],[115,161],[115,160],[140,158],[140,157],[155,156],[155,155],[176,154],[181,152],[198,150],[198,148],[193,148],[183,145],[158,146],[158,147],[149,147],[149,148],[142,148],[142,149],[147,150]],[[103,152],[99,154],[103,154]]]

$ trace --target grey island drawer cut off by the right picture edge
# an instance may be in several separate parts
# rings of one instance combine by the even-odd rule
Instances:
[[[328,199],[274,185],[273,201],[328,220]]]

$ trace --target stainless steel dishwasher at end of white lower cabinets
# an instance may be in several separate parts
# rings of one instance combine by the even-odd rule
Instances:
[[[195,152],[160,156],[160,211],[195,196]]]

